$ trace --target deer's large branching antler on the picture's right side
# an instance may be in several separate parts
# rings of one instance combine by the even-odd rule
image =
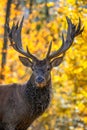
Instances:
[[[48,59],[52,59],[56,56],[59,56],[60,54],[64,54],[72,45],[74,38],[78,36],[79,34],[81,34],[84,29],[84,28],[81,29],[80,18],[79,18],[79,23],[77,27],[71,22],[71,20],[68,17],[66,17],[66,20],[68,23],[66,41],[64,40],[64,35],[62,34],[62,45],[57,51],[53,52],[52,54],[50,54],[50,50],[52,46],[52,43],[51,43],[49,46],[48,54],[47,54]]]

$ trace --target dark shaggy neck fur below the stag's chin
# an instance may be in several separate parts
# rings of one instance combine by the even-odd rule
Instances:
[[[34,83],[34,77],[32,75],[30,80],[27,82],[25,91],[25,95],[32,107],[31,116],[38,117],[45,111],[50,102],[50,94],[51,79],[48,81],[46,86],[40,88]]]

